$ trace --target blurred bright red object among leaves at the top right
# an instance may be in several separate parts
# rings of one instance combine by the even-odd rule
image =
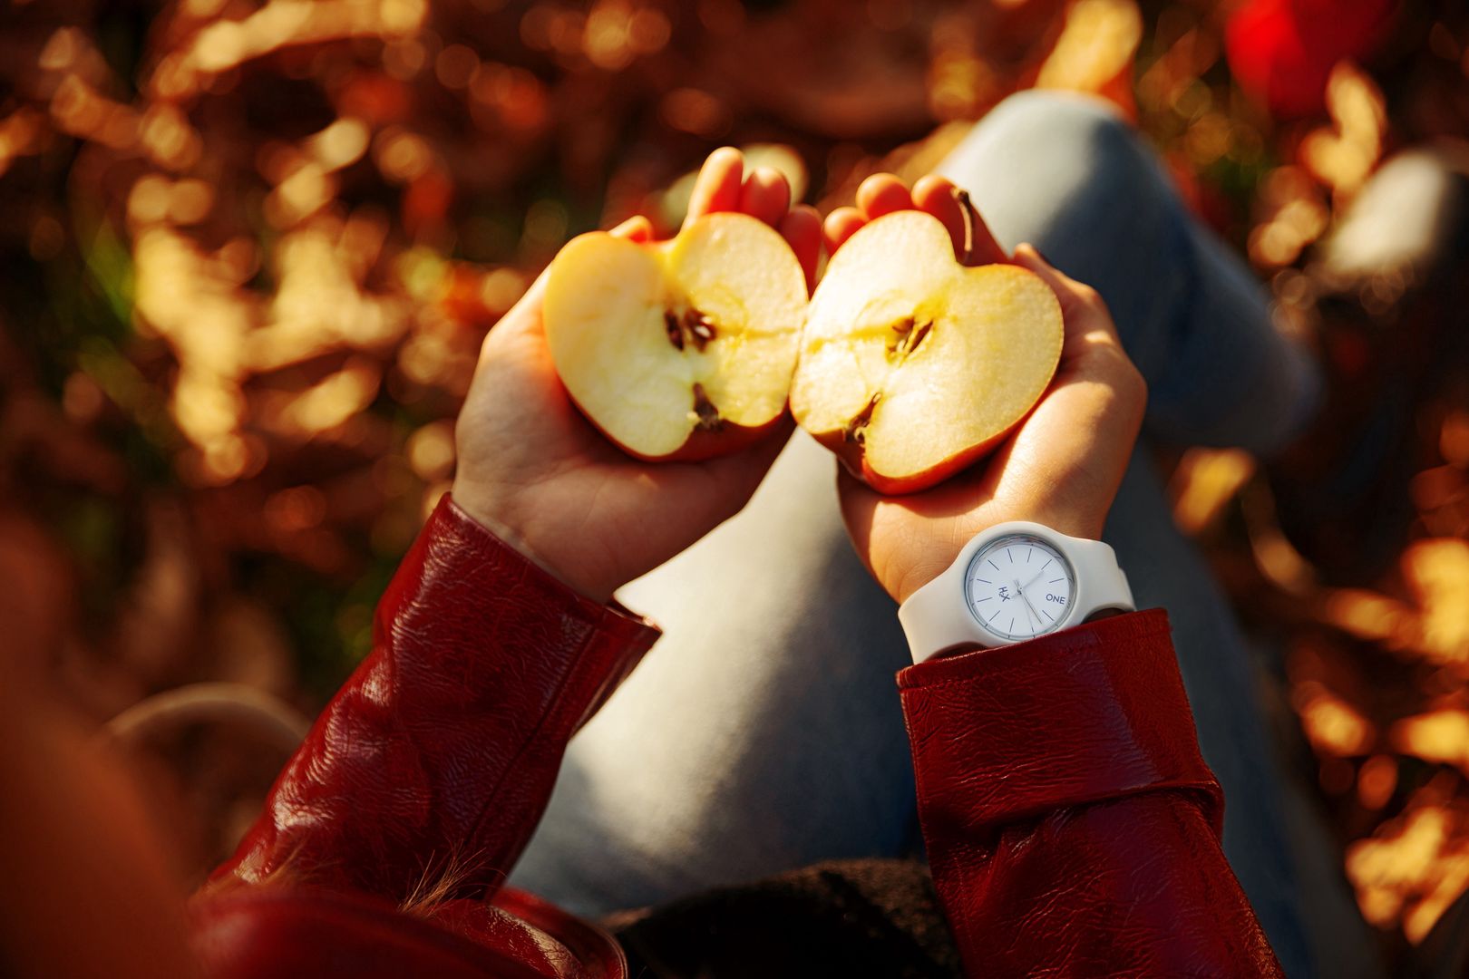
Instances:
[[[1396,9],[1397,0],[1252,0],[1225,31],[1230,69],[1277,116],[1321,112],[1332,66],[1369,54]]]

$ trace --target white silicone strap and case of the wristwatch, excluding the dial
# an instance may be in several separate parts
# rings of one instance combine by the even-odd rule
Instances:
[[[1022,641],[1003,638],[980,625],[970,612],[970,602],[964,593],[964,574],[974,555],[992,540],[1014,534],[1031,534],[1047,540],[1071,562],[1071,569],[1075,574],[1071,608],[1052,631],[1078,625],[1102,609],[1131,612],[1136,608],[1127,575],[1118,567],[1116,553],[1111,546],[1100,540],[1068,537],[1042,524],[1024,521],[999,524],[978,533],[964,546],[953,564],[945,568],[937,578],[909,594],[908,600],[899,606],[898,621],[902,622],[915,663],[965,643],[1009,646]]]

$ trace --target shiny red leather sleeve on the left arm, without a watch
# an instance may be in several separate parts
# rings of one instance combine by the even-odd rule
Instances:
[[[492,892],[571,734],[658,633],[580,597],[445,498],[378,605],[373,652],[214,876],[403,901]]]

